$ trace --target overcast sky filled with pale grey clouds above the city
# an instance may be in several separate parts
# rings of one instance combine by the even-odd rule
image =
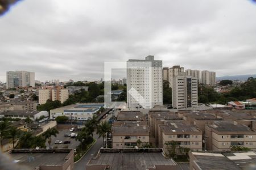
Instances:
[[[23,0],[0,16],[0,81],[99,80],[105,61],[256,74],[256,3],[249,0]],[[122,71],[121,71],[122,72]]]

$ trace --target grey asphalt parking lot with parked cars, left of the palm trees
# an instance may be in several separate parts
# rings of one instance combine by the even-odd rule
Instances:
[[[68,134],[71,134],[71,133],[78,133],[77,131],[72,131],[70,132],[69,129],[67,130],[59,130],[59,134],[57,134],[57,137],[54,137],[52,136],[51,139],[52,139],[52,142],[51,142],[51,147],[57,147],[57,148],[65,148],[68,146],[68,148],[76,148],[77,146],[79,146],[79,141],[76,141],[76,138],[71,138],[71,137],[64,137],[64,134],[65,133],[68,133]],[[69,144],[55,144],[55,141],[70,141],[71,143]],[[46,141],[46,146],[49,146],[48,145],[48,141]]]

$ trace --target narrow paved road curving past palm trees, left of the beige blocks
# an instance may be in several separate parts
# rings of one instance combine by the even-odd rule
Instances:
[[[93,137],[97,139],[96,143],[90,148],[90,150],[84,155],[84,157],[82,157],[79,162],[74,164],[75,170],[84,170],[89,160],[94,158],[100,150],[102,146],[102,138],[98,138],[96,133],[94,133]]]

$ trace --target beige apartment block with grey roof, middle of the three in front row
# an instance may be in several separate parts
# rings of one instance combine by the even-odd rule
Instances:
[[[202,150],[202,131],[195,125],[185,124],[183,121],[166,121],[159,125],[159,147],[168,152],[166,143],[175,141],[181,147],[191,150]]]

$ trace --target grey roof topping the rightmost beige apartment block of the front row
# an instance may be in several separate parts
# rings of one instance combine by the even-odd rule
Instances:
[[[234,124],[229,121],[214,121],[212,125],[207,126],[217,131],[251,131],[246,125]]]

